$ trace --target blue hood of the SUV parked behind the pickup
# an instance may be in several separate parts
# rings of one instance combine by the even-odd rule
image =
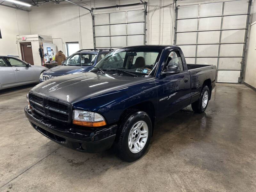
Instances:
[[[84,72],[92,69],[92,66],[66,66],[59,65],[48,69],[44,72],[44,75],[67,75],[71,73]]]

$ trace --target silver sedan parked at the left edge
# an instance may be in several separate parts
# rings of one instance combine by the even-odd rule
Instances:
[[[39,76],[48,68],[34,66],[15,57],[0,56],[0,90],[39,83]]]

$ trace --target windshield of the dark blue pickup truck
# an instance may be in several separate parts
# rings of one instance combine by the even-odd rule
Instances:
[[[116,49],[100,60],[95,67],[103,71],[119,69],[134,74],[149,75],[153,72],[159,57],[158,49]]]

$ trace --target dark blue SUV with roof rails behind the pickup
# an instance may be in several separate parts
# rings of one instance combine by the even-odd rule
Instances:
[[[71,73],[90,71],[111,51],[113,49],[81,49],[70,55],[62,65],[44,71],[39,77],[39,82]]]

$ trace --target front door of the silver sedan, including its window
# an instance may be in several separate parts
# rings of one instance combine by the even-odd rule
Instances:
[[[36,74],[33,67],[28,67],[21,60],[12,57],[6,57],[15,74],[15,83],[33,83],[36,81]]]

